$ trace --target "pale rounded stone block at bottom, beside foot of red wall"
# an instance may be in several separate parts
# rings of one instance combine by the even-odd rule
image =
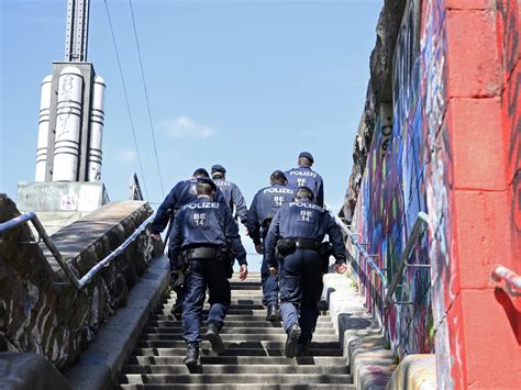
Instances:
[[[396,368],[387,390],[437,389],[436,355],[418,354],[407,356]]]

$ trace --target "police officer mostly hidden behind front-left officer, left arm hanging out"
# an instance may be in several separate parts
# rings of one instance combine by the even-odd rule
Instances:
[[[189,180],[179,181],[170,192],[167,194],[163,203],[159,205],[156,212],[156,216],[151,224],[151,236],[153,239],[160,239],[160,233],[165,230],[168,222],[170,225],[168,227],[167,237],[169,235],[169,230],[171,229],[174,218],[176,216],[177,211],[187,203],[190,203],[197,200],[196,193],[196,183],[197,179],[200,177],[209,177],[208,171],[204,168],[198,168],[193,171],[192,178]],[[218,191],[215,194],[215,200],[223,202],[224,198],[221,191]],[[170,261],[170,269],[173,268]],[[182,280],[177,279],[178,275],[173,272],[171,282],[174,291],[176,291],[176,303],[174,304],[173,312],[179,314],[182,310]]]

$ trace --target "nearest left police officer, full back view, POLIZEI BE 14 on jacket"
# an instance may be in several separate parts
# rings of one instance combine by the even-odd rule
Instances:
[[[207,287],[210,312],[204,338],[218,354],[224,352],[219,335],[230,308],[230,267],[236,258],[240,280],[247,276],[246,250],[232,213],[223,203],[213,201],[215,183],[200,177],[196,186],[198,199],[182,207],[170,233],[169,255],[175,269],[186,272],[186,294],[182,302],[182,328],[187,344],[187,366],[197,365],[201,342],[199,322]],[[182,261],[180,261],[182,260]]]

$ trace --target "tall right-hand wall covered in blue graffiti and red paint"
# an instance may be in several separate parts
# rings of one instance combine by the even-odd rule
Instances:
[[[409,260],[431,272],[409,269],[398,290],[413,304],[385,313],[378,279],[358,258],[354,268],[393,350],[435,350],[444,389],[521,387],[521,302],[489,281],[496,263],[521,274],[520,19],[519,0],[408,1],[387,77],[392,133],[378,115],[384,87],[344,208],[389,277],[429,213]]]

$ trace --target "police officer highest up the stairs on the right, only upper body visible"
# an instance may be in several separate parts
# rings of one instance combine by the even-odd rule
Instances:
[[[298,168],[292,168],[286,172],[288,187],[297,190],[299,187],[308,187],[313,191],[315,203],[324,207],[324,183],[322,177],[311,169],[313,166],[313,156],[309,152],[300,152]]]

